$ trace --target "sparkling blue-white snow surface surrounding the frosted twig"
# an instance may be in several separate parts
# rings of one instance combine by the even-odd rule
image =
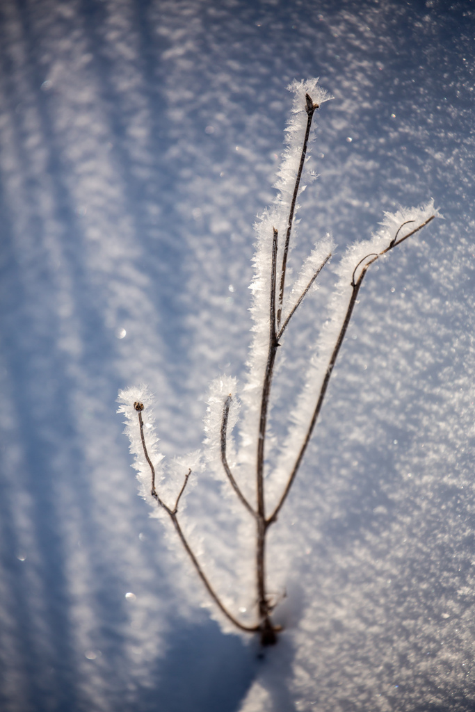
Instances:
[[[465,1],[1,4],[2,709],[474,708],[474,30]],[[308,76],[334,99],[293,275],[402,206],[444,220],[365,278],[271,532],[286,631],[260,659],[137,498],[115,398],[149,385],[172,460],[209,383],[244,384],[253,224]],[[336,279],[289,325],[276,449]],[[211,468],[190,484],[184,528],[252,619],[246,513]]]

